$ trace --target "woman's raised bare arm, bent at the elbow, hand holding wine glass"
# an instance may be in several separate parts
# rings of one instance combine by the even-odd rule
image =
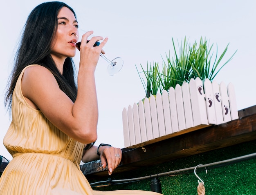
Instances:
[[[45,67],[31,66],[22,77],[22,93],[27,102],[34,104],[58,129],[84,144],[97,140],[98,104],[94,71],[106,42],[107,39],[103,40],[99,47],[81,44],[78,93],[74,103],[59,89],[56,79]]]

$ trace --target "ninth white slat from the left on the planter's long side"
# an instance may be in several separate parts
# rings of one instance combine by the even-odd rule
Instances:
[[[169,102],[170,102],[172,132],[175,133],[179,131],[179,122],[178,122],[178,114],[177,114],[175,89],[173,87],[169,89]]]

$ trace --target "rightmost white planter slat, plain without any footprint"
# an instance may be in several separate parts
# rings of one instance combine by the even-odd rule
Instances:
[[[238,116],[238,110],[237,110],[237,105],[236,105],[235,88],[232,83],[228,84],[227,92],[229,95],[229,106],[230,106],[231,120],[236,120],[239,118],[239,116]]]

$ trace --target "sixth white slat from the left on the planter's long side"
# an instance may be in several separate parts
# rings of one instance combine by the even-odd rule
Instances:
[[[151,113],[151,120],[152,120],[152,128],[153,128],[153,138],[159,137],[159,128],[158,128],[158,119],[157,119],[157,105],[155,96],[150,96],[150,113]]]

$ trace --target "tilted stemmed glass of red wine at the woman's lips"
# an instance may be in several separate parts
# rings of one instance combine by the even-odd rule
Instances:
[[[76,33],[73,34],[73,38],[72,40],[76,40],[76,48],[80,51],[80,46],[81,46],[81,39],[82,39],[82,35],[85,33],[85,31],[83,30],[80,30]],[[87,43],[89,42],[90,40],[87,40]],[[99,46],[100,42],[95,42],[93,47],[97,47]],[[105,55],[103,55],[102,53],[100,53],[100,56],[106,60],[108,62],[108,67],[107,67],[107,70],[108,70],[108,74],[109,75],[115,75],[116,73],[118,73],[123,65],[124,65],[124,61],[122,60],[122,58],[120,57],[117,57],[113,60],[108,60],[108,58],[106,58]]]

